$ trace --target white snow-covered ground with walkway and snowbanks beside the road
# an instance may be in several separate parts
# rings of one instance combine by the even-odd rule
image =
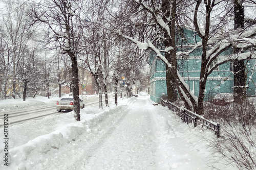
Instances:
[[[37,101],[47,104],[46,101],[56,100]],[[9,107],[24,103],[38,106],[35,100],[10,101],[5,101]],[[8,107],[2,106],[6,112]],[[9,164],[4,165],[3,141],[0,168],[236,169],[211,156],[205,138],[215,140],[213,132],[182,123],[166,107],[153,106],[146,93],[138,98],[119,99],[118,106],[87,107],[80,114],[81,122],[76,122],[73,112],[68,112],[9,126]],[[3,136],[3,127],[0,132]]]

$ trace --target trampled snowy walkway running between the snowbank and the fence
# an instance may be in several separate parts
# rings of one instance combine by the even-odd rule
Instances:
[[[152,105],[152,104],[151,104]],[[129,107],[132,106],[132,107]],[[156,137],[147,100],[134,99],[120,112],[122,119],[81,169],[152,169]]]

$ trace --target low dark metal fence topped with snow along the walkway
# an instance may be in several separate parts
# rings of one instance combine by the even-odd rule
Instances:
[[[180,108],[173,103],[166,102],[161,100],[161,105],[167,106],[168,109],[172,110],[173,112],[176,112],[177,115],[180,116],[180,118],[183,120],[184,123],[193,123],[194,127],[197,127],[198,125],[201,125],[202,127],[205,126],[207,129],[210,129],[212,131],[215,131],[215,134],[217,137],[220,137],[220,124],[212,122],[211,120],[207,120],[203,116],[196,114],[190,110],[187,110],[186,108]]]

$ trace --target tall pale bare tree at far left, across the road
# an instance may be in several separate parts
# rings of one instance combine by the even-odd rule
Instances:
[[[27,2],[3,1],[5,11],[3,12],[3,26],[8,40],[8,55],[12,61],[12,96],[16,98],[16,91],[20,88],[17,78],[17,66],[20,57],[26,48],[29,39],[28,18],[26,18]]]

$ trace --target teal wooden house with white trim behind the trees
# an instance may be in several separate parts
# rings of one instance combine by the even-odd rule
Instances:
[[[186,36],[186,43],[195,44],[195,41],[201,41],[199,37],[194,36],[194,32],[191,30],[184,29]],[[191,37],[191,38],[189,38]],[[177,40],[177,44],[182,44]],[[184,49],[184,48],[183,48]],[[178,48],[179,51],[179,48]],[[210,67],[218,63],[218,60],[228,57],[232,53],[232,49],[223,52]],[[202,51],[198,49],[189,56],[178,58],[177,65],[178,70],[185,83],[188,84],[189,89],[198,96],[199,94],[199,77],[201,70],[201,59],[200,56]],[[154,52],[148,58],[148,63],[151,66],[150,72],[150,97],[151,100],[158,103],[160,102],[162,95],[167,95],[166,88],[166,72],[165,63],[156,57]],[[256,83],[256,59],[245,60],[246,64],[246,94],[248,96],[255,96],[255,83]],[[223,65],[218,66],[217,69],[212,71],[208,77],[205,89],[205,101],[211,100],[218,93],[233,93],[233,62],[227,62]]]

